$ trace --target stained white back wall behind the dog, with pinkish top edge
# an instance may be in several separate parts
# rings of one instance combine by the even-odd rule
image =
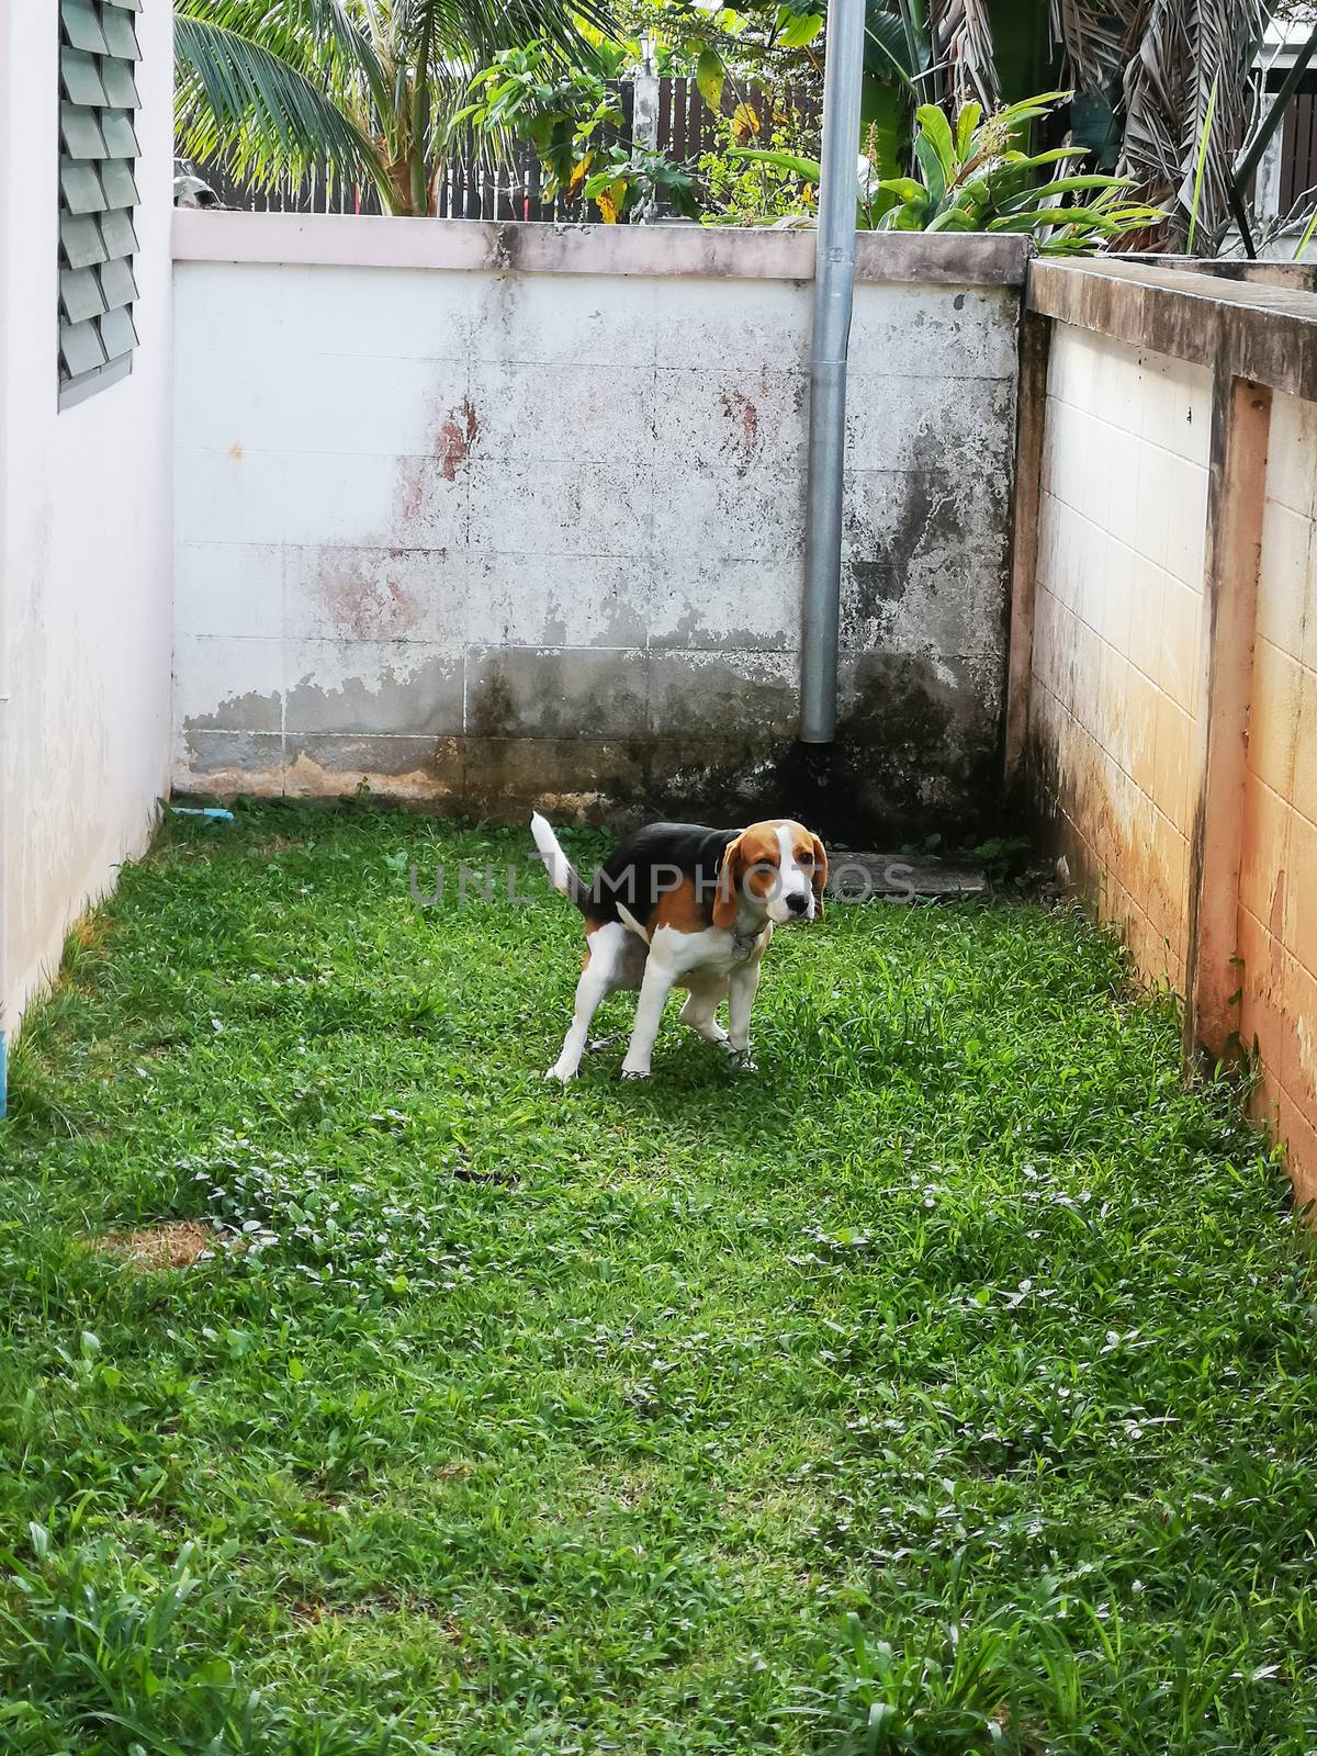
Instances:
[[[813,239],[179,214],[177,788],[790,790]],[[836,792],[996,808],[1006,239],[866,239]]]

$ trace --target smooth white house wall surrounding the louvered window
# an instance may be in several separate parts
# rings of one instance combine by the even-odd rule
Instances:
[[[0,1024],[146,846],[169,774],[172,18],[137,14],[140,348],[56,407],[60,26],[0,7]]]

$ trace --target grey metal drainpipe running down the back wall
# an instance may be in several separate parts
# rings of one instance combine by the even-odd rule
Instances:
[[[824,176],[818,184],[801,627],[801,743],[806,745],[831,745],[838,730],[841,469],[846,450],[846,348],[855,290],[864,0],[829,0],[824,54]]]

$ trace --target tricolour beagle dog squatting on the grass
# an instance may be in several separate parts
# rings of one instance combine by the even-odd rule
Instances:
[[[750,1068],[750,1008],[774,925],[824,913],[827,853],[790,818],[748,829],[650,824],[625,841],[587,887],[536,811],[530,834],[550,883],[585,915],[585,968],[562,1054],[544,1078],[576,1078],[595,1008],[639,989],[622,1076],[643,1080],[664,1001],[687,989],[681,1022]],[[727,1029],[716,1011],[727,1001]]]

